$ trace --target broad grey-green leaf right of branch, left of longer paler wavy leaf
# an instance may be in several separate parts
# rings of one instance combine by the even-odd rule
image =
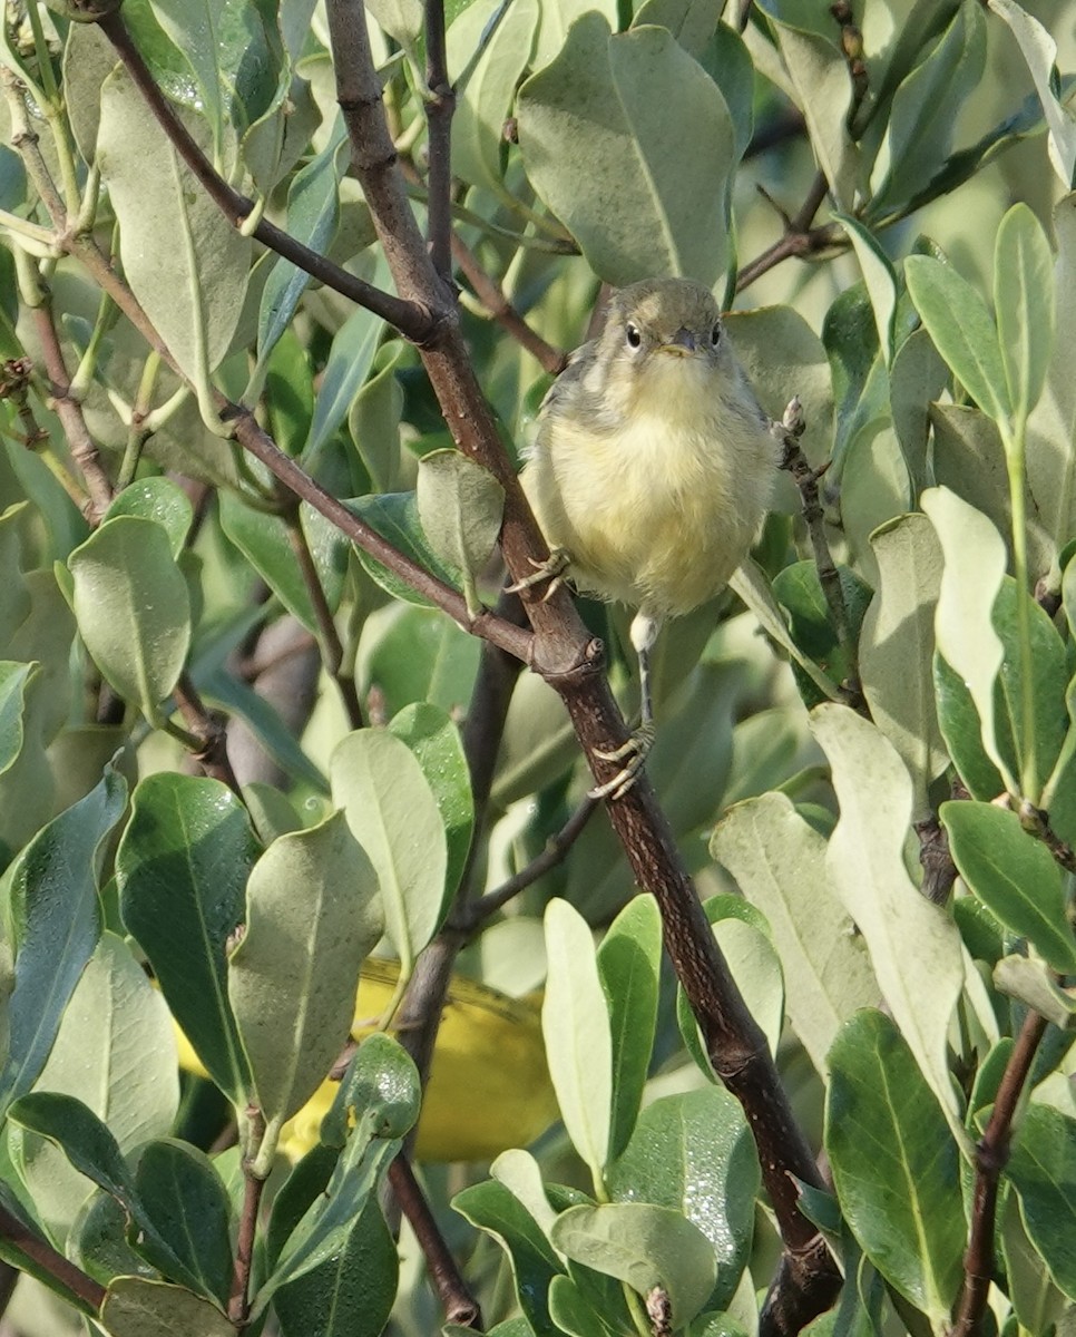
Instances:
[[[710,850],[766,916],[795,1034],[819,1072],[842,1021],[876,1005],[878,984],[851,919],[825,874],[826,842],[783,794],[726,813]]]

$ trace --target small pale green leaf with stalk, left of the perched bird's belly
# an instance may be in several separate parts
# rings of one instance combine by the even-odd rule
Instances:
[[[468,612],[476,616],[481,602],[475,582],[501,532],[504,488],[458,451],[433,451],[418,461],[414,496],[430,547],[446,566],[462,572]]]

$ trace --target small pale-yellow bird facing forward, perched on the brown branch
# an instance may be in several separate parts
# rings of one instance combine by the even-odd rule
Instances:
[[[642,725],[600,754],[624,766],[595,797],[635,782],[654,741],[658,632],[728,583],[766,513],[778,453],[718,303],[686,278],[615,293],[601,334],[545,396],[521,481],[551,558],[512,588],[568,571],[579,590],[638,608]]]

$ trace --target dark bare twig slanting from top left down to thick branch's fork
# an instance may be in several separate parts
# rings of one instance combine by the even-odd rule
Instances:
[[[154,82],[146,62],[131,40],[131,35],[119,11],[103,15],[98,19],[98,27],[108,37],[116,49],[116,55],[123,62],[128,75],[134,80],[142,96],[146,99],[150,111],[156,118],[168,142],[180,155],[191,174],[200,183],[214,203],[231,221],[233,226],[241,227],[255,210],[255,203],[246,195],[239,194],[214,170],[213,163],[206,158],[194,142],[187,128],[174,114],[164,95]],[[380,287],[356,278],[346,270],[334,265],[330,259],[295,241],[282,227],[261,218],[250,233],[257,241],[293,265],[298,265],[313,278],[321,279],[329,287],[345,297],[349,297],[358,306],[366,308],[376,316],[394,325],[406,338],[416,344],[422,344],[434,333],[428,310],[414,302],[382,293]]]

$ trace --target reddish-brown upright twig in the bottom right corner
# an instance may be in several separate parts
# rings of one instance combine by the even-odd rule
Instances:
[[[964,1255],[964,1285],[956,1306],[952,1337],[974,1337],[986,1314],[994,1273],[994,1218],[1001,1171],[1009,1159],[1012,1122],[1031,1066],[1047,1031],[1045,1017],[1028,1012],[1005,1064],[986,1131],[976,1146],[976,1185],[972,1198],[972,1230]]]

